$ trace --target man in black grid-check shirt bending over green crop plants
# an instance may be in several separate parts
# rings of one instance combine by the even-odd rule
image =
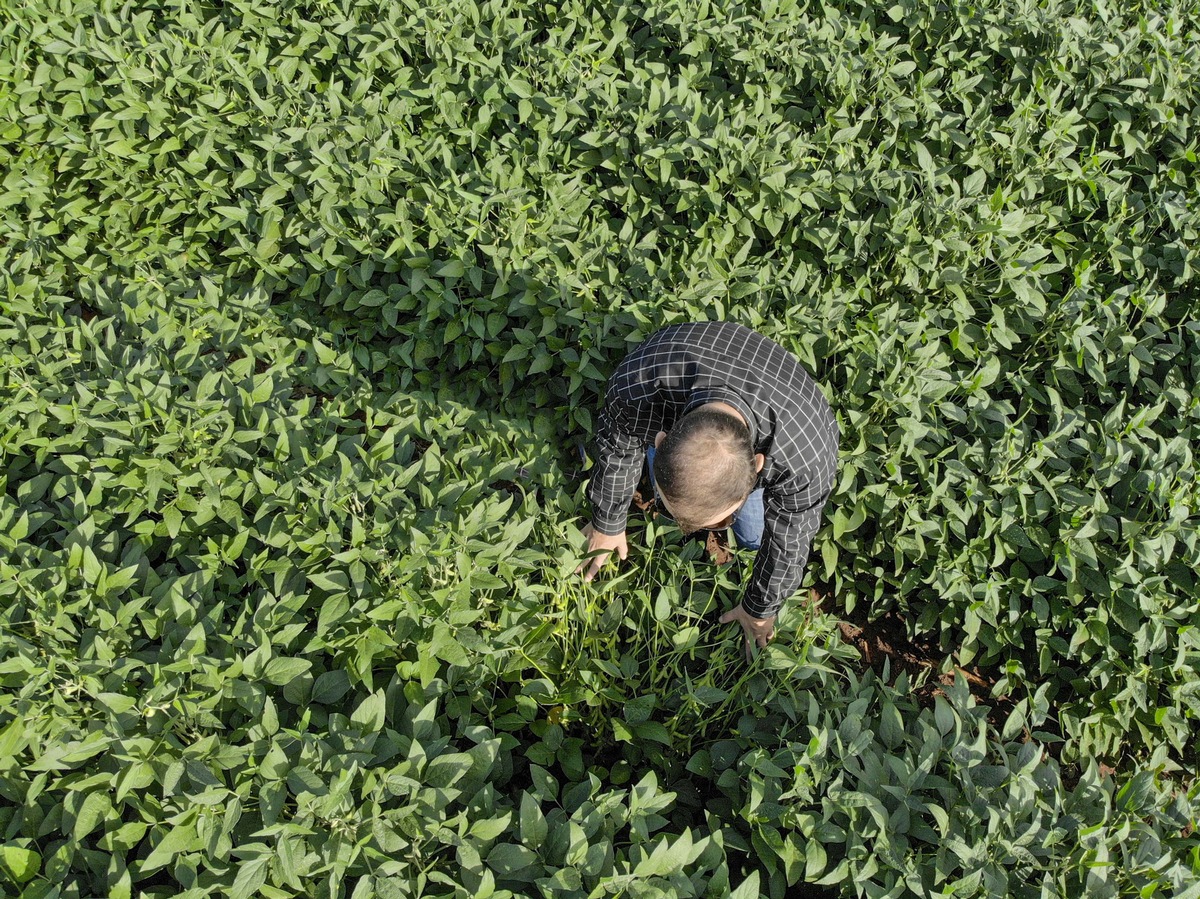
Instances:
[[[742,603],[720,618],[742,624],[750,658],[799,587],[838,437],[821,390],[778,343],[733,322],[653,334],[608,382],[583,528],[590,559],[578,570],[590,581],[612,552],[626,557],[625,521],[648,456],[660,505],[684,533],[732,523],[739,545],[758,550]]]

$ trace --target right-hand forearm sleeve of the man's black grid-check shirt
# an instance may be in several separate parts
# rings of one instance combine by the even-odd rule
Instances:
[[[770,490],[763,495],[762,545],[742,607],[754,618],[779,615],[804,577],[812,538],[833,485]]]

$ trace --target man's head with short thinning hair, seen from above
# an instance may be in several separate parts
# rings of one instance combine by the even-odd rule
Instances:
[[[750,428],[727,412],[689,412],[654,453],[654,481],[684,533],[744,503],[757,480]]]

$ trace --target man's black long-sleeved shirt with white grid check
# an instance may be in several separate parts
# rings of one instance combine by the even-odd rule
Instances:
[[[838,425],[816,382],[778,343],[734,322],[665,328],[617,367],[596,432],[588,486],[592,526],[625,529],[646,446],[686,412],[725,402],[750,426],[766,527],[742,607],[756,618],[779,612],[800,586],[812,537],[838,467]]]

